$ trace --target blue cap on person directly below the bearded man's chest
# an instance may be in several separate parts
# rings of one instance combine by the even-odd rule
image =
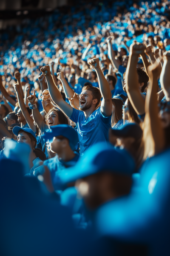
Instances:
[[[69,144],[72,150],[75,149],[75,145],[79,142],[77,131],[69,125],[53,125],[50,129],[46,130],[42,137],[45,140],[52,140],[53,137],[63,136],[69,140]]]

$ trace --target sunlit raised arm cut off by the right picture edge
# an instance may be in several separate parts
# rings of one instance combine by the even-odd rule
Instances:
[[[170,101],[170,51],[164,52],[164,64],[161,71],[160,83],[167,101]]]

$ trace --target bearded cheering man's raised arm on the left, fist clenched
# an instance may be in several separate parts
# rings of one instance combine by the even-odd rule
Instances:
[[[68,117],[71,117],[73,113],[73,108],[62,99],[61,93],[59,92],[57,86],[54,83],[53,77],[51,76],[50,73],[50,67],[49,66],[44,66],[41,68],[42,74],[45,76],[48,84],[48,90],[51,96],[51,99],[55,102],[56,105],[59,106],[59,108],[62,109],[62,111],[65,112],[65,114]],[[60,75],[58,76],[60,79]]]

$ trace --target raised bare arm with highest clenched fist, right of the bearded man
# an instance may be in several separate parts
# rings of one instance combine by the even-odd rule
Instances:
[[[139,54],[143,54],[145,50],[143,44],[133,43],[130,45],[129,60],[127,63],[125,82],[127,96],[137,114],[144,114],[144,99],[139,91],[139,79],[136,71]]]

